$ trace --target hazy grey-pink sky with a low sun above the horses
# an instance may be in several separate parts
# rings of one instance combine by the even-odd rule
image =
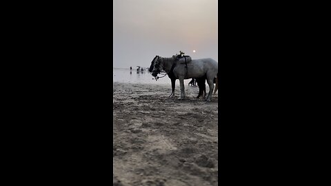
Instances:
[[[113,0],[114,68],[149,67],[179,50],[218,61],[217,0]],[[193,50],[196,50],[194,53]]]

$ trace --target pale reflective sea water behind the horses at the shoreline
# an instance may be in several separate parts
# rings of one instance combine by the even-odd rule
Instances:
[[[161,74],[159,77],[163,76]],[[154,76],[148,70],[137,72],[136,69],[130,70],[129,68],[113,68],[112,71],[113,82],[119,83],[147,83],[147,84],[168,84],[171,87],[171,81],[168,75],[155,81]],[[191,79],[185,79],[184,85],[187,85]],[[176,85],[179,85],[179,80],[176,80]]]

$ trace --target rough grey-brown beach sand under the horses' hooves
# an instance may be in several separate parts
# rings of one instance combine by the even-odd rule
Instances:
[[[207,93],[209,87],[206,85]],[[217,185],[218,95],[113,83],[113,185]]]

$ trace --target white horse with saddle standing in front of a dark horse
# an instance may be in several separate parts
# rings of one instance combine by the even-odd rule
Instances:
[[[183,61],[177,61],[174,56],[165,58],[159,56],[155,59],[152,76],[157,77],[157,74],[164,70],[167,74],[172,73],[176,79],[179,79],[181,86],[181,97],[185,99],[184,79],[201,78],[205,76],[209,85],[208,96],[206,101],[210,101],[212,90],[214,90],[214,77],[218,76],[219,66],[214,59],[192,59],[187,65]]]

